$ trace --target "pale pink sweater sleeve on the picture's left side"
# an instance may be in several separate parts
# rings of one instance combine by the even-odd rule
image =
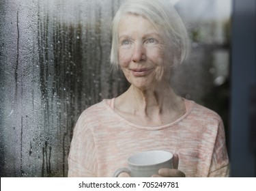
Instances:
[[[94,135],[86,119],[84,112],[74,128],[68,156],[68,177],[97,177]]]

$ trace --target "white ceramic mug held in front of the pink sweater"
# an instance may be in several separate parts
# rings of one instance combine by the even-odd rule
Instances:
[[[128,173],[130,177],[151,177],[158,175],[160,168],[173,168],[173,153],[162,150],[144,151],[130,156],[126,162],[128,168],[119,168],[113,177]]]

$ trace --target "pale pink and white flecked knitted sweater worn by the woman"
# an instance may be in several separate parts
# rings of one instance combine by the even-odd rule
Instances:
[[[177,153],[186,177],[227,177],[229,159],[223,121],[214,111],[185,100],[186,113],[159,127],[137,126],[115,113],[114,101],[87,108],[76,123],[68,177],[112,177],[140,151]]]

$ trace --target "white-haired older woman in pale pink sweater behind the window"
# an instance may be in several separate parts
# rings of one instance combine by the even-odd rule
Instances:
[[[227,176],[223,121],[180,98],[169,83],[171,70],[188,53],[186,29],[173,6],[166,0],[124,1],[112,31],[111,63],[130,88],[81,114],[68,176],[112,177],[128,156],[152,149],[174,153],[175,168],[162,168],[155,177]]]

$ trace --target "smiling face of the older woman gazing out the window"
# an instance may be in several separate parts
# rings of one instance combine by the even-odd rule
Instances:
[[[167,47],[154,25],[143,16],[126,14],[118,31],[119,65],[127,80],[141,90],[167,80]]]

